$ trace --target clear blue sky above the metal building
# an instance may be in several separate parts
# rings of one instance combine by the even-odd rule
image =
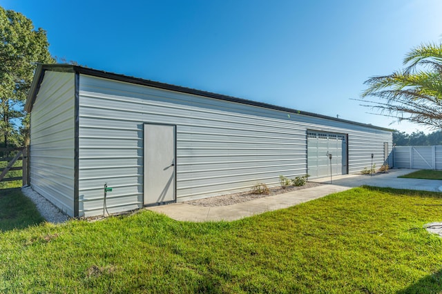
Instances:
[[[48,32],[50,52],[98,70],[396,128],[363,82],[439,42],[440,0],[0,0]],[[392,124],[393,123],[393,124]]]

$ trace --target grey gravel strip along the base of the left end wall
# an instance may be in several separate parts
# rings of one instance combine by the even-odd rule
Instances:
[[[21,192],[34,202],[37,210],[47,222],[60,224],[66,222],[69,217],[59,210],[54,204],[50,203],[45,197],[32,190],[30,186],[21,188]]]

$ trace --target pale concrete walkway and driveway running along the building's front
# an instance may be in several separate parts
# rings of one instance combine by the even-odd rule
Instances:
[[[401,188],[410,190],[438,191],[442,181],[432,179],[401,179],[398,176],[412,173],[410,169],[392,169],[388,173],[376,175],[341,175],[330,178],[313,179],[310,182],[325,183],[327,185],[316,186],[285,194],[255,199],[249,202],[233,204],[229,206],[202,207],[184,203],[174,203],[162,206],[153,206],[146,209],[157,213],[164,213],[172,219],[190,222],[208,221],[232,221],[265,213],[266,211],[287,208],[307,202],[326,195],[349,190],[350,188],[369,185],[378,187]]]

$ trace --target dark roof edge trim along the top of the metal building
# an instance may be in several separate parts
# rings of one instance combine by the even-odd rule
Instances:
[[[321,119],[329,119],[332,121],[339,121],[339,122],[343,122],[346,124],[354,124],[356,126],[364,126],[367,128],[376,128],[378,130],[387,130],[390,132],[392,131],[392,129],[390,129],[390,128],[382,128],[380,126],[373,126],[371,124],[363,124],[363,123],[358,123],[356,121],[349,121],[347,119],[338,119],[337,117],[329,117],[327,115],[319,115],[319,114],[313,113],[313,112],[306,112],[306,111],[296,110],[293,108],[287,108],[287,107],[282,107],[282,106],[276,106],[273,104],[252,101],[252,100],[248,100],[248,99],[241,99],[241,98],[231,97],[231,96],[227,96],[227,95],[220,95],[220,94],[216,94],[213,92],[206,92],[206,91],[196,90],[196,89],[192,89],[192,88],[186,88],[186,87],[182,87],[182,86],[164,84],[164,83],[160,83],[157,81],[151,81],[148,79],[140,79],[137,77],[128,77],[126,75],[119,75],[119,74],[115,74],[113,72],[105,72],[103,70],[95,70],[92,68],[84,68],[82,66],[73,66],[70,64],[45,64],[45,65],[41,66],[41,69],[42,69],[41,72],[38,72],[38,71],[36,72],[36,77],[37,77],[37,74],[39,74],[39,75],[41,75],[42,73],[44,74],[44,70],[53,70],[53,71],[59,71],[59,72],[78,72],[83,75],[102,77],[104,79],[115,79],[117,81],[124,81],[124,82],[131,83],[131,84],[138,84],[138,85],[142,85],[142,86],[149,86],[149,87],[153,87],[153,88],[171,90],[171,91],[175,91],[175,92],[183,92],[186,94],[209,97],[209,98],[219,99],[219,100],[224,100],[224,101],[231,101],[231,102],[235,102],[235,103],[239,103],[239,104],[247,104],[247,105],[251,105],[251,106],[258,106],[258,107],[269,108],[269,109],[273,109],[273,110],[280,110],[280,111],[284,111],[284,112],[290,112],[295,115],[306,115],[309,117],[318,117]],[[41,79],[42,79],[42,77],[39,78],[39,83],[41,83]],[[34,82],[35,81],[36,81],[36,78],[34,79]],[[34,84],[34,82],[32,84]],[[37,90],[37,88],[34,88],[33,90],[34,90],[34,92],[32,92],[32,87],[31,87],[30,95],[28,96],[28,101],[26,101],[26,106],[28,106],[28,102],[30,102],[30,97],[32,97],[32,99],[31,99],[32,104],[34,103],[35,95],[37,94],[37,92],[35,92],[35,90]],[[32,107],[30,109],[32,109]],[[28,111],[28,108],[25,108],[25,110]]]

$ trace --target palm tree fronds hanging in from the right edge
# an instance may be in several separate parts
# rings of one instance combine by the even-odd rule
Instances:
[[[412,49],[403,61],[405,69],[365,81],[361,97],[376,97],[364,106],[399,121],[431,128],[442,127],[442,43]]]

